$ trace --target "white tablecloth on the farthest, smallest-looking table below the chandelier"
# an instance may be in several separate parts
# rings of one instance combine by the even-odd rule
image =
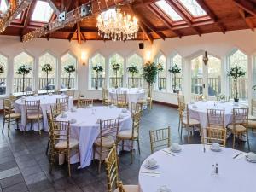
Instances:
[[[139,99],[143,99],[143,90],[137,88],[120,88],[120,89],[113,89],[109,90],[110,99],[115,101],[116,100],[116,91],[126,91],[127,93],[127,100],[131,104],[131,102],[137,102]]]

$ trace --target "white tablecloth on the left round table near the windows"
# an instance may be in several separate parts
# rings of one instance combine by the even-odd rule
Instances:
[[[48,122],[47,122],[47,114],[46,112],[50,110],[50,105],[56,103],[57,98],[63,98],[64,96],[61,95],[39,95],[39,96],[28,96],[26,97],[26,101],[37,101],[40,100],[40,108],[43,113],[43,119],[44,119],[44,127],[43,125],[40,125],[40,128],[44,131],[49,131]],[[73,98],[70,96],[68,101],[68,109],[73,108]],[[26,125],[26,108],[25,108],[25,102],[21,102],[21,98],[15,101],[15,112],[21,113],[21,126],[20,130],[25,130]],[[30,125],[26,125],[26,130],[30,129]],[[38,124],[35,124],[32,126],[32,129],[34,131],[38,131]]]

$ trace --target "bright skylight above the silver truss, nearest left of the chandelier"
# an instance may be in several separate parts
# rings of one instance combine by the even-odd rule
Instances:
[[[38,1],[32,14],[32,21],[48,23],[53,9],[49,6],[49,3]]]

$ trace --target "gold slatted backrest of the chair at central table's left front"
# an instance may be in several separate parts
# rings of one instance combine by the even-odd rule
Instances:
[[[56,143],[65,142],[67,148],[69,148],[69,137],[70,137],[70,123],[69,121],[56,121],[53,120],[50,127],[50,135],[52,138],[52,144],[55,146]]]

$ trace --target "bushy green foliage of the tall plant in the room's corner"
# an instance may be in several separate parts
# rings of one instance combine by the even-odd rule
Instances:
[[[154,62],[148,61],[144,66],[143,66],[143,79],[148,84],[153,84],[155,82],[156,76],[157,76],[157,71],[158,67]]]

